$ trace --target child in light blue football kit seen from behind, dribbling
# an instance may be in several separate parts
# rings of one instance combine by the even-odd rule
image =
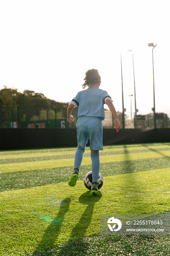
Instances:
[[[75,153],[74,170],[69,181],[69,185],[74,187],[78,179],[79,168],[85,152],[86,144],[90,139],[90,150],[92,159],[92,187],[90,194],[98,193],[98,174],[100,169],[99,150],[103,150],[103,127],[101,121],[105,118],[104,103],[115,117],[115,128],[117,132],[120,129],[119,117],[112,104],[112,99],[107,91],[99,89],[101,78],[97,69],[89,69],[85,73],[85,83],[82,84],[83,89],[78,92],[75,98],[69,103],[67,108],[67,121],[74,122],[72,116],[73,108],[78,106],[77,142],[78,147]]]

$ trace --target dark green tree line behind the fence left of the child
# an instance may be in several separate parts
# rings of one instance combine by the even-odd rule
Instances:
[[[49,119],[66,118],[68,103],[57,102],[45,97],[42,93],[4,86],[0,90],[0,127],[8,128],[8,123],[18,121],[46,120],[47,112]],[[19,110],[19,111],[18,111]]]

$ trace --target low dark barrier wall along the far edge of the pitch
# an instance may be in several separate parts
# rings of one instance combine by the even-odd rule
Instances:
[[[0,150],[77,147],[76,129],[0,129]],[[170,142],[170,128],[103,129],[103,144]],[[88,143],[89,145],[89,143]]]

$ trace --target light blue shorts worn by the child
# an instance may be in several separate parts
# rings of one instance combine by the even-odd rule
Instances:
[[[80,117],[77,124],[77,143],[85,147],[90,139],[90,150],[103,150],[103,127],[99,117]]]

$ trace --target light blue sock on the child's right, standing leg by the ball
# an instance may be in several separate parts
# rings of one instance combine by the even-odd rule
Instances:
[[[92,159],[92,182],[98,182],[98,174],[100,169],[99,152],[91,153]]]

